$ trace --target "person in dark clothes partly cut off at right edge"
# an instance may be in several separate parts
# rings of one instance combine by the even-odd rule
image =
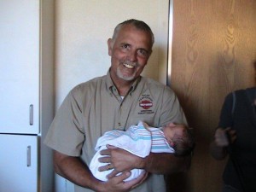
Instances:
[[[224,99],[218,128],[210,145],[214,159],[228,157],[222,192],[256,191],[255,137],[256,87],[230,92]]]

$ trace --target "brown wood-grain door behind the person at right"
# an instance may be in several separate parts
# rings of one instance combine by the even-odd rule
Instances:
[[[188,173],[168,178],[168,191],[221,191],[225,160],[209,153],[224,96],[254,86],[256,1],[174,0],[171,87],[196,148]]]

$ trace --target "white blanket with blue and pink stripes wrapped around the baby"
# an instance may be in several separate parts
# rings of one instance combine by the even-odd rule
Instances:
[[[106,166],[107,163],[101,163],[98,158],[102,157],[100,151],[106,149],[106,145],[113,145],[122,148],[131,154],[139,157],[146,157],[150,152],[153,153],[174,153],[174,149],[169,146],[164,137],[163,131],[159,128],[148,127],[147,124],[140,121],[138,125],[132,125],[127,131],[112,130],[104,133],[96,143],[96,154],[90,161],[90,171],[99,180],[107,181],[107,175],[113,170],[99,172],[100,166]],[[130,181],[138,177],[143,170],[131,170],[131,176],[125,179]]]

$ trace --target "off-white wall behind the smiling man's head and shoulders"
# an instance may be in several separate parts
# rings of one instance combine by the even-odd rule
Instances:
[[[128,19],[143,20],[154,32],[153,54],[143,75],[166,84],[168,9],[168,0],[55,0],[56,108],[73,86],[107,73],[107,40]],[[65,191],[65,182],[60,179],[57,188]]]

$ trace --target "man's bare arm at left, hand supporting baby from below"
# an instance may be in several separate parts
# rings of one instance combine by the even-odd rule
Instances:
[[[54,151],[54,167],[57,174],[69,181],[98,192],[128,191],[144,179],[144,175],[142,175],[124,183],[123,180],[130,177],[131,173],[123,172],[119,176],[108,179],[108,182],[102,182],[93,177],[88,166],[79,157],[68,156],[57,151]]]

